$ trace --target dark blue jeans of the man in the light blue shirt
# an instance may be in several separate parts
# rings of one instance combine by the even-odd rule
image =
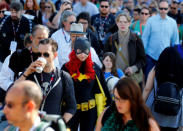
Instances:
[[[151,69],[157,64],[157,61],[154,60],[149,55],[146,55],[146,66],[145,66],[145,82],[147,81],[147,77]]]

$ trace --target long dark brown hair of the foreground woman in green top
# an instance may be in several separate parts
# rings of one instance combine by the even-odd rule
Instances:
[[[131,78],[124,77],[118,81],[114,89],[117,89],[119,96],[122,99],[130,101],[131,117],[140,131],[150,131],[149,118],[153,118],[150,110],[145,105],[142,98],[139,85]],[[122,118],[123,114],[120,114],[116,110],[116,119],[119,121],[120,129],[124,127]]]

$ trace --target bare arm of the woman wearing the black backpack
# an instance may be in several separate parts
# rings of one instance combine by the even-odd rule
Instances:
[[[149,93],[153,89],[153,83],[154,83],[154,77],[155,77],[155,70],[154,68],[149,72],[149,75],[147,77],[147,82],[144,88],[144,91],[142,93],[142,97],[144,101],[147,100],[147,97],[149,96]]]

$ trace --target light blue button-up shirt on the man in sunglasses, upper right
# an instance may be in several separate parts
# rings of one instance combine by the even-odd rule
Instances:
[[[158,60],[161,52],[168,46],[179,44],[176,21],[166,16],[162,19],[159,14],[148,19],[142,40],[146,54]]]

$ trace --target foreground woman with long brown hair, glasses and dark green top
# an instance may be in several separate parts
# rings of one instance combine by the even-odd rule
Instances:
[[[136,82],[122,78],[113,93],[115,102],[99,117],[96,131],[160,131]]]

